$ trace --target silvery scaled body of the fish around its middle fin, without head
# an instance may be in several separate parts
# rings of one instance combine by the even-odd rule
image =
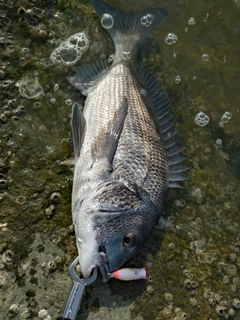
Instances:
[[[127,170],[131,173],[132,181],[143,185],[161,208],[163,193],[167,189],[168,165],[165,153],[139,87],[130,70],[123,64],[115,66],[108,77],[104,77],[88,95],[83,114],[90,130],[86,132],[86,143],[82,146],[78,161],[84,167],[85,163],[90,165],[93,161],[91,146],[96,139],[104,139],[106,127],[121,107],[124,97],[127,97],[129,103],[128,114],[115,154],[112,179],[125,177]],[[103,137],[100,138],[102,134]],[[159,170],[160,168],[162,169]],[[82,193],[94,187],[90,186],[88,179],[84,179],[85,172],[85,168],[82,168],[77,176],[78,192],[80,188]],[[98,183],[99,181],[93,181],[94,185]]]

